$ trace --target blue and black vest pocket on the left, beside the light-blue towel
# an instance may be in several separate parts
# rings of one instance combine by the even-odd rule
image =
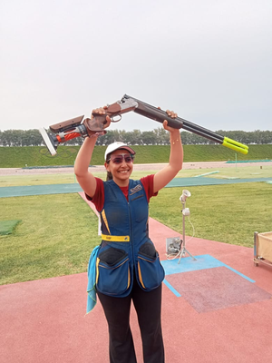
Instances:
[[[121,295],[131,285],[129,256],[124,250],[102,250],[96,263],[96,288],[106,295]]]

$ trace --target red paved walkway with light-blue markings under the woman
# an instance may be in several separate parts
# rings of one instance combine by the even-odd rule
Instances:
[[[270,363],[272,268],[255,267],[253,249],[196,238],[186,245],[196,261],[166,260],[166,239],[177,233],[152,219],[150,227],[166,269],[166,362]],[[108,362],[102,307],[98,302],[85,316],[86,286],[86,273],[1,286],[0,361]],[[142,363],[133,308],[131,329]]]

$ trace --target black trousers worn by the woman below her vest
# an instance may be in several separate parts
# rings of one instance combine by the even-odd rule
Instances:
[[[164,363],[161,333],[161,285],[144,291],[134,278],[131,294],[114,298],[97,293],[109,326],[110,363],[137,363],[130,327],[131,300],[141,329],[144,363]]]

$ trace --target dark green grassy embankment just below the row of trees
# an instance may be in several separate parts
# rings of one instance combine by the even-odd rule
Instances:
[[[106,146],[95,146],[92,165],[103,164]],[[133,146],[137,153],[135,163],[168,162],[170,146]],[[59,146],[57,154],[51,156],[45,147],[1,147],[0,168],[24,168],[31,166],[73,165],[79,146]],[[247,155],[237,153],[222,145],[184,145],[184,162],[212,162],[236,160],[272,160],[272,144],[249,145]]]

